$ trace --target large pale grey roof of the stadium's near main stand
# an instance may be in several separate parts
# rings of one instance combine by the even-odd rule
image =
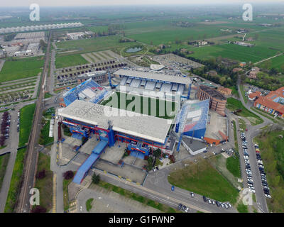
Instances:
[[[111,113],[110,116],[107,113]],[[115,113],[118,116],[111,116]],[[164,143],[173,120],[142,114],[136,116],[136,114],[132,111],[101,106],[82,100],[75,100],[66,108],[58,111],[58,115],[62,117],[105,129],[109,128],[108,122],[111,121],[114,131]]]

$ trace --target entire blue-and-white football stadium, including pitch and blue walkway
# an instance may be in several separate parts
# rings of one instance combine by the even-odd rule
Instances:
[[[114,81],[118,83],[112,84]],[[121,147],[144,163],[157,149],[162,155],[173,157],[181,144],[188,147],[188,139],[206,143],[209,99],[191,100],[191,87],[189,77],[121,69],[109,74],[109,87],[90,78],[65,92],[63,108],[58,110],[59,121],[69,128],[72,138],[87,138],[89,145],[89,156],[73,182],[80,184],[94,165],[104,167],[101,157],[116,156]],[[84,146],[78,149],[86,150]],[[187,150],[195,155],[206,146],[202,148]],[[107,162],[106,166],[110,161]],[[124,162],[118,157],[112,164],[123,166]],[[145,166],[140,167],[145,170]]]

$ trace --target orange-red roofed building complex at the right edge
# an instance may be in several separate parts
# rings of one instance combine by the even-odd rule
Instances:
[[[254,101],[253,106],[284,118],[284,87],[280,87],[266,96],[260,96]]]

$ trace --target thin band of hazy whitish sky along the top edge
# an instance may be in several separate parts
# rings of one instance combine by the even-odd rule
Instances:
[[[191,0],[175,0],[173,4],[172,0],[144,0],[141,4],[141,1],[131,1],[131,0],[12,0],[12,1],[4,1],[1,3],[0,8],[3,7],[27,7],[31,4],[38,4],[39,6],[55,6],[55,7],[62,7],[62,6],[158,6],[158,5],[212,5],[212,4],[276,4],[276,3],[284,3],[283,0],[231,0],[231,1],[224,1],[224,0],[199,0],[199,1],[191,1]]]

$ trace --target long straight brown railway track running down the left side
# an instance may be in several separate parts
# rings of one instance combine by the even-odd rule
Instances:
[[[31,204],[29,202],[30,200],[30,189],[35,184],[35,172],[37,170],[37,163],[38,163],[38,150],[35,150],[35,145],[37,145],[37,138],[39,135],[40,127],[38,124],[40,124],[41,115],[40,113],[43,110],[43,85],[45,83],[45,77],[48,72],[48,66],[50,61],[50,39],[51,39],[51,32],[48,35],[48,47],[46,49],[45,53],[45,65],[43,68],[43,74],[40,82],[39,87],[39,94],[38,99],[35,102],[35,115],[33,118],[33,126],[31,129],[31,134],[28,140],[28,147],[26,151],[26,158],[24,162],[24,168],[23,168],[23,182],[21,186],[21,192],[18,197],[18,203],[16,206],[16,212],[17,213],[28,213],[31,211]]]

